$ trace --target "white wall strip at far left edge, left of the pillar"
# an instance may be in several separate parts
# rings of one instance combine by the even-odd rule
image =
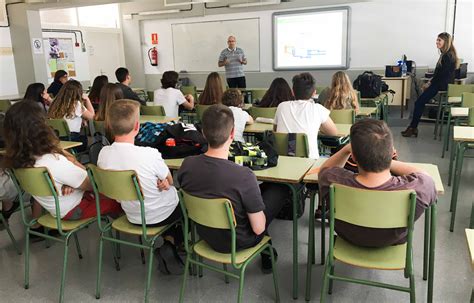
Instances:
[[[18,94],[10,29],[0,28],[0,96]]]

